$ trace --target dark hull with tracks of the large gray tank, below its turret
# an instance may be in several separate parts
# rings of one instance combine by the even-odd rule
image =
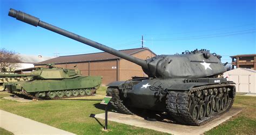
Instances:
[[[113,97],[111,103],[121,113],[133,114],[131,110],[138,109],[168,112],[178,123],[199,126],[230,109],[235,96],[233,84],[225,78],[136,79],[109,84],[107,96]],[[194,106],[198,117],[193,116]]]

